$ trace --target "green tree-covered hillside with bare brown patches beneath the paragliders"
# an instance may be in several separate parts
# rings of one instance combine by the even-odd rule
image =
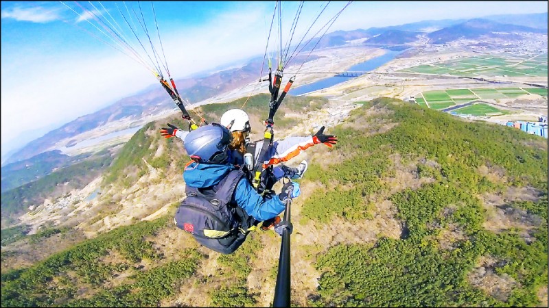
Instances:
[[[255,133],[265,101],[252,97],[244,108]],[[289,97],[275,129],[298,124],[285,112],[305,114],[325,103]],[[333,149],[320,144],[303,154],[309,169],[292,203],[292,305],[546,306],[546,140],[396,99],[362,104],[327,129],[339,139]],[[216,104],[197,112],[211,120],[226,109]],[[121,149],[104,190],[132,188],[137,198],[136,183],[151,172],[168,189],[183,185],[187,157],[178,140],[159,136],[164,125],[150,123]],[[102,202],[126,197],[112,191]],[[220,255],[174,226],[179,200],[165,201],[172,204],[161,218],[99,232],[32,266],[3,265],[1,306],[272,305],[279,235],[253,232],[236,253]],[[12,245],[38,249],[65,232]],[[3,264],[15,258],[2,252]]]

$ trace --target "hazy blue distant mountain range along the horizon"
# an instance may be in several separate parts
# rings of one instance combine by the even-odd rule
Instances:
[[[482,19],[471,20],[441,20],[421,21],[390,27],[372,27],[369,29],[356,29],[353,31],[334,31],[323,36],[320,41],[312,40],[303,49],[316,49],[326,47],[338,47],[349,44],[351,40],[363,39],[365,45],[395,45],[406,44],[417,40],[419,35],[426,35],[432,44],[444,44],[460,38],[504,38],[507,40],[520,40],[519,33],[546,33],[547,13],[497,15]],[[309,57],[307,60],[314,60]],[[305,57],[303,57],[305,60]],[[303,61],[301,60],[301,61]],[[299,62],[299,59],[294,60]],[[176,80],[178,90],[182,97],[190,103],[196,103],[213,97],[216,94],[233,90],[257,79],[261,62],[253,61],[240,68],[221,70],[204,77],[194,77]],[[84,131],[95,129],[107,123],[122,118],[139,120],[143,116],[159,113],[163,110],[174,108],[174,103],[160,86],[143,91],[140,94],[121,99],[117,103],[105,107],[93,114],[80,116],[59,129],[49,131],[45,136],[33,140],[16,153],[13,153],[6,164],[28,159],[50,149],[56,142],[63,138],[78,135]]]

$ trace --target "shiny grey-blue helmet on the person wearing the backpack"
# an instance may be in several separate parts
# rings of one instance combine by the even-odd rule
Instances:
[[[185,150],[197,162],[221,164],[228,155],[233,135],[218,123],[198,127],[185,137]]]

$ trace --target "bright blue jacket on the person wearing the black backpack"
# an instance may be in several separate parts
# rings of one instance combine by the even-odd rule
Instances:
[[[207,188],[219,183],[226,175],[235,170],[231,164],[190,164],[183,172],[185,183],[194,188]],[[278,196],[267,199],[255,191],[245,177],[238,181],[231,198],[231,203],[242,207],[244,211],[256,220],[268,220],[278,216],[285,208]]]

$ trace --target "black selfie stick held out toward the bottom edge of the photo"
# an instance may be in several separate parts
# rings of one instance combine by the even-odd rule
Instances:
[[[292,190],[288,195],[292,195]],[[290,205],[292,205],[292,199],[288,198],[285,202],[284,220],[274,229],[282,236],[282,243],[280,244],[279,271],[277,285],[274,287],[272,307],[290,307],[290,234],[292,234]]]

